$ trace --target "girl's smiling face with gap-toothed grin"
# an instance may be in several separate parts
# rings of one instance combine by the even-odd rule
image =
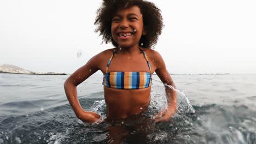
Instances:
[[[111,34],[119,47],[138,45],[141,35],[146,34],[139,7],[134,5],[126,9],[117,10],[112,19]]]

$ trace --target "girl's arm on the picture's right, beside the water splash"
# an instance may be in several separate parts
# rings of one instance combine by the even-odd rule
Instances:
[[[155,73],[164,83],[168,105],[166,110],[158,113],[155,121],[168,121],[177,112],[177,93],[175,91],[176,87],[174,85],[174,82],[172,81],[170,73],[168,73],[168,70],[166,69],[164,59],[162,59],[161,55],[158,52],[156,52],[155,57],[156,59],[158,59],[158,61],[154,63],[156,65]]]

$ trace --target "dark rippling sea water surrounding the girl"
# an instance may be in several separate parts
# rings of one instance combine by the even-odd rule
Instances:
[[[256,143],[255,74],[172,75],[179,107],[170,121],[114,130],[75,117],[63,89],[67,77],[0,74],[0,143]],[[86,111],[104,118],[101,82],[92,75],[77,92]],[[154,75],[147,115],[165,106]]]

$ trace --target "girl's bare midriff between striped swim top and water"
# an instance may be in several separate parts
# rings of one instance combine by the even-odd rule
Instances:
[[[107,118],[118,119],[137,115],[150,103],[151,87],[143,89],[115,89],[104,87]]]

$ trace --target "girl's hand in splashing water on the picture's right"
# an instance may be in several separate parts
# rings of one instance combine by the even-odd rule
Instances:
[[[176,107],[168,107],[164,111],[160,111],[154,118],[155,122],[167,122],[174,116],[176,113]]]

